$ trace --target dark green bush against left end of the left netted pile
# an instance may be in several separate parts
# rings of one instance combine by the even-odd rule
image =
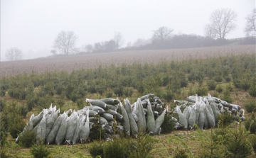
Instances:
[[[33,130],[25,130],[18,136],[19,144],[23,147],[32,147],[36,142],[36,132]]]

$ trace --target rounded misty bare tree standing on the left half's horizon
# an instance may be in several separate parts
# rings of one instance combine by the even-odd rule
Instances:
[[[55,39],[54,46],[61,53],[69,55],[71,52],[76,52],[75,42],[78,37],[73,31],[61,31]]]

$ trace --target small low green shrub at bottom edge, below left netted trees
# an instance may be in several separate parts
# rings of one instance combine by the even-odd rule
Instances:
[[[35,144],[31,148],[31,154],[35,158],[46,158],[49,156],[50,150],[48,147],[46,147],[46,145],[43,145],[43,143]]]

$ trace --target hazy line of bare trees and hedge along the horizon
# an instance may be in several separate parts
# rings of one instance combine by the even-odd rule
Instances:
[[[245,45],[255,44],[256,35],[256,8],[247,15],[244,28],[247,38],[227,40],[226,37],[236,28],[236,18],[238,14],[231,9],[217,9],[210,14],[209,23],[204,27],[204,36],[201,35],[174,35],[173,28],[161,26],[153,30],[151,39],[138,39],[136,42],[127,43],[124,46],[124,36],[120,32],[114,33],[114,37],[107,41],[94,44],[82,45],[80,49],[76,47],[78,36],[73,31],[61,31],[53,43],[53,55],[70,55],[77,52],[113,52],[117,50],[145,50],[145,49],[171,49],[188,47],[209,47],[219,45],[229,45],[232,43]],[[6,51],[8,60],[21,60],[22,52],[17,47],[12,47]]]

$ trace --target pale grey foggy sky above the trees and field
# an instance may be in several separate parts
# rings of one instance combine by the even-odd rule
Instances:
[[[122,33],[124,43],[149,39],[161,26],[174,34],[203,35],[210,13],[228,8],[238,13],[237,28],[227,38],[245,37],[245,17],[255,0],[0,0],[1,61],[11,47],[23,59],[46,57],[60,31],[73,30],[76,47],[93,44]]]

